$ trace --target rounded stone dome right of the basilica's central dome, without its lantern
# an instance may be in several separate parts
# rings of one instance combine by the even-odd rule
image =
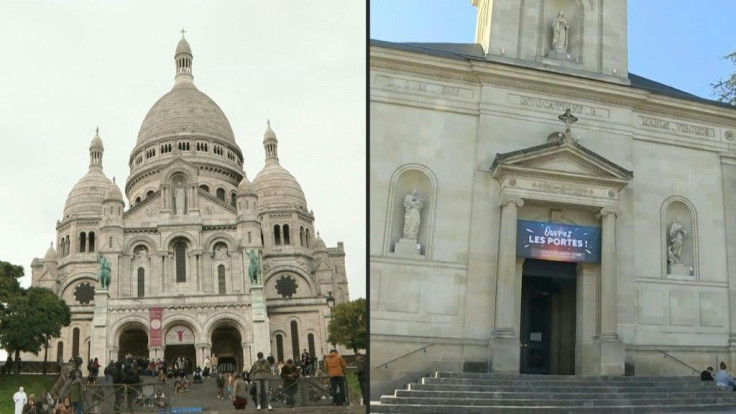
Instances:
[[[293,175],[280,164],[267,163],[253,180],[253,187],[258,195],[258,204],[262,207],[288,206],[293,204],[307,210],[307,200],[302,187]]]

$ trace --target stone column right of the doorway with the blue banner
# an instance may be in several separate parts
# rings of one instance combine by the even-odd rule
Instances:
[[[618,338],[616,284],[618,260],[616,250],[616,215],[618,211],[601,209],[601,333],[598,337],[601,375],[624,374],[624,345]]]

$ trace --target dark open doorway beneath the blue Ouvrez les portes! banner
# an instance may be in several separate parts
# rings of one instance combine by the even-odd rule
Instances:
[[[522,374],[575,374],[576,267],[577,263],[524,261]]]

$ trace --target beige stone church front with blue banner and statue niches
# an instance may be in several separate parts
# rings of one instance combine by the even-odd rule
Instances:
[[[736,110],[628,73],[626,2],[370,45],[371,397],[736,362]]]

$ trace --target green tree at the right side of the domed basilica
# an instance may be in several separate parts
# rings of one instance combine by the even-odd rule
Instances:
[[[352,302],[341,303],[332,308],[332,320],[327,327],[327,340],[350,348],[353,352],[365,349],[368,343],[366,336],[366,303],[360,298]]]

